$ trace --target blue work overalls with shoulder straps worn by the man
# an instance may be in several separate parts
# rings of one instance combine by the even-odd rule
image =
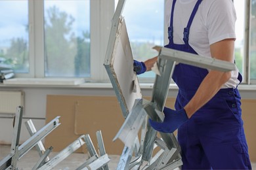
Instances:
[[[171,22],[168,28],[169,44],[165,47],[197,54],[188,44],[192,20],[202,0],[198,0],[187,27],[184,28],[184,44],[173,42],[173,0]],[[182,109],[193,97],[207,69],[179,63],[175,66],[173,80],[179,86],[175,109]],[[238,76],[240,82],[242,76]],[[243,121],[240,94],[226,88],[219,92],[178,129],[178,141],[182,150],[182,169],[251,169]]]

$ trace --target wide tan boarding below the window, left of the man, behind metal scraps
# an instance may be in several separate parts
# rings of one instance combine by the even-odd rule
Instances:
[[[96,131],[102,137],[108,154],[121,154],[123,143],[113,142],[124,122],[116,96],[47,95],[46,123],[60,116],[60,126],[45,137],[45,148],[59,152],[82,134],[89,134],[95,148]],[[85,146],[76,152],[87,152]]]

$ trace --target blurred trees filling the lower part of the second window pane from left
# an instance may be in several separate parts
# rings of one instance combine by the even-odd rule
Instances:
[[[45,75],[88,76],[90,73],[90,34],[72,32],[73,16],[58,8],[47,10],[45,22]]]

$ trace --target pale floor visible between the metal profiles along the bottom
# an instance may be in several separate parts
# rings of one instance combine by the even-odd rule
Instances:
[[[10,145],[0,145],[0,161],[5,158],[10,153],[11,146]],[[57,153],[53,152],[49,155],[50,158],[53,158]],[[110,162],[108,163],[108,168],[110,170],[116,169],[117,163],[119,161],[119,156],[109,155]],[[54,167],[56,170],[73,170],[79,167],[85,160],[88,159],[87,154],[71,154],[65,160],[61,161]],[[31,170],[35,163],[39,160],[39,154],[37,150],[32,148],[28,153],[26,153],[20,160],[18,161],[19,170]],[[252,163],[253,169],[256,170],[256,163]]]

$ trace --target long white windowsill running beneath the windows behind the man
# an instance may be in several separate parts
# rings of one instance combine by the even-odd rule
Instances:
[[[0,83],[1,87],[41,87],[41,88],[113,88],[110,82],[85,82],[85,78],[11,78]],[[142,89],[152,89],[153,83],[140,83]],[[170,89],[177,90],[176,84]],[[240,84],[239,90],[256,91],[256,84]]]

